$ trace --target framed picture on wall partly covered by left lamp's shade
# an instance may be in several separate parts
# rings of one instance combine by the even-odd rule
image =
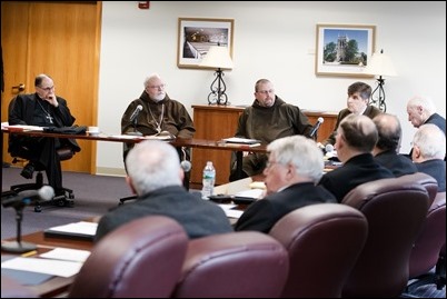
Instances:
[[[210,69],[200,62],[217,44],[228,47],[232,59],[234,19],[179,18],[178,27],[178,68]]]

